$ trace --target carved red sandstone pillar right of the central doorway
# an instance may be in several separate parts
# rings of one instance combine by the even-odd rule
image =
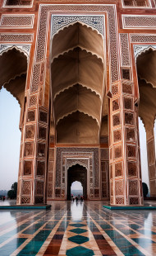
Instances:
[[[109,99],[111,205],[143,205],[138,110],[134,101],[131,81],[119,80],[112,84]]]

